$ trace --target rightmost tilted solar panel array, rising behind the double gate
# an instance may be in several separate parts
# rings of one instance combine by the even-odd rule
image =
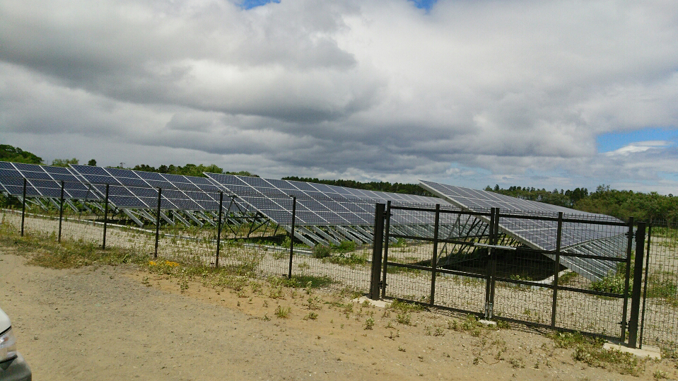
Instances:
[[[542,202],[517,199],[515,197],[496,194],[494,192],[454,187],[436,182],[420,181],[424,189],[437,194],[460,206],[462,209],[474,210],[499,208],[503,213],[523,214],[525,216],[554,216],[563,212],[576,216],[583,221],[607,221],[611,224],[591,224],[585,222],[563,223],[561,250],[563,252],[584,253],[592,250],[596,255],[604,257],[625,257],[624,242],[626,228],[622,221],[596,213],[586,213],[563,206],[544,204]],[[487,218],[482,218],[487,221]],[[556,250],[557,221],[546,221],[530,218],[500,218],[499,229],[528,247],[538,250]],[[595,247],[595,249],[593,249]],[[553,256],[547,254],[553,259]],[[561,257],[564,266],[572,269],[587,279],[597,281],[607,276],[614,269],[615,263],[602,259],[583,259]]]

